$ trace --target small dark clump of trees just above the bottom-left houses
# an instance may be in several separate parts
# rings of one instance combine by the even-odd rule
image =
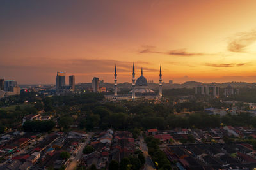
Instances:
[[[55,127],[56,123],[54,120],[35,120],[26,121],[23,124],[25,132],[49,132]]]

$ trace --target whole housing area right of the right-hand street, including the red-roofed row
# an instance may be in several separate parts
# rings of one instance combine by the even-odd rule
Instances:
[[[225,138],[256,138],[256,129],[225,126],[214,129],[182,129],[167,131],[148,129],[147,135],[166,143],[161,145],[166,156],[180,170],[185,169],[252,169],[256,152],[248,143],[225,143]],[[180,139],[193,136],[193,142]]]

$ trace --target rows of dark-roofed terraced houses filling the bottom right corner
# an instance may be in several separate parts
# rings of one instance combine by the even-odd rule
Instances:
[[[168,145],[164,153],[181,170],[252,169],[256,166],[256,152],[245,143]]]

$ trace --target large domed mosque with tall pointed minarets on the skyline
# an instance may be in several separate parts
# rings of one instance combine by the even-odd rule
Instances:
[[[135,79],[135,69],[134,63],[132,67],[132,90],[127,95],[118,95],[117,94],[117,73],[115,66],[115,92],[114,95],[108,96],[107,98],[112,99],[138,99],[138,98],[160,98],[162,97],[162,71],[160,66],[160,74],[159,74],[159,94],[156,94],[153,90],[149,89],[148,81],[145,76],[143,76],[143,69],[141,68],[141,76]]]

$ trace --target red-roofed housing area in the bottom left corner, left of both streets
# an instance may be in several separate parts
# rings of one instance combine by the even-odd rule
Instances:
[[[0,138],[0,169],[23,170],[53,167],[60,169],[69,163],[69,159],[60,157],[65,151],[77,154],[77,148],[87,135],[85,132],[51,134],[19,133],[5,134]]]

